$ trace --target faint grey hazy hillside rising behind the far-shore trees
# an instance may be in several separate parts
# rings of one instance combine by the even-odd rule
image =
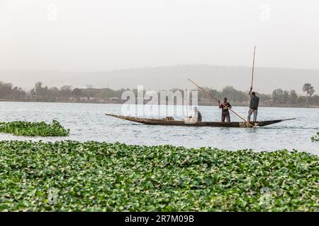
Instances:
[[[220,90],[233,85],[237,90],[250,88],[251,68],[247,66],[181,65],[125,69],[117,71],[67,72],[67,71],[1,71],[0,81],[11,82],[23,88],[32,88],[36,81],[44,85],[72,85],[113,89],[136,88],[164,90],[170,88],[194,88],[187,78],[199,85]],[[318,94],[319,70],[307,69],[255,69],[254,89],[259,93],[272,93],[276,88],[296,90],[302,93],[303,83],[311,83]]]

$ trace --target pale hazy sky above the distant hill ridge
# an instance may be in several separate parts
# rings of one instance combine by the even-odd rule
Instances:
[[[319,1],[0,0],[0,70],[319,69]]]

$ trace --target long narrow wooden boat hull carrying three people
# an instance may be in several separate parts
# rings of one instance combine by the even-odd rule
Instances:
[[[139,117],[128,117],[121,116],[116,114],[106,114],[111,117],[116,117],[118,119],[124,119],[128,121],[134,121],[142,124],[148,125],[162,125],[162,126],[211,126],[211,127],[238,127],[238,128],[247,128],[253,126],[267,126],[270,124],[279,123],[281,121],[287,121],[292,119],[277,119],[269,121],[251,121],[250,124],[247,124],[245,121],[232,121],[232,122],[221,122],[221,121],[181,121],[181,120],[168,120],[168,119],[147,119]]]

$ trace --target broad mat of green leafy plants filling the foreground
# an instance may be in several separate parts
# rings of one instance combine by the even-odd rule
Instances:
[[[318,156],[0,141],[0,211],[318,211]]]

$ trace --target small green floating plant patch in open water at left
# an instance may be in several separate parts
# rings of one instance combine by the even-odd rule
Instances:
[[[16,136],[69,136],[69,129],[65,129],[59,121],[52,124],[29,121],[0,122],[1,133],[12,133]]]

